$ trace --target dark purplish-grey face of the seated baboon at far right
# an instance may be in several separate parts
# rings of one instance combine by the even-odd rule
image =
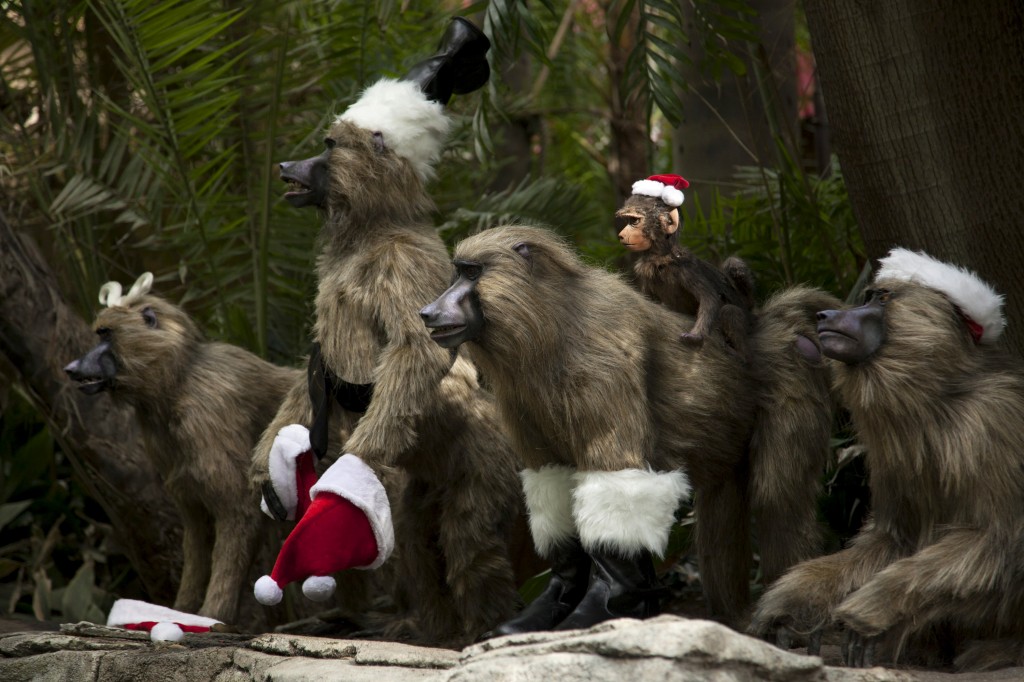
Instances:
[[[818,312],[821,352],[847,365],[873,355],[886,340],[885,306],[891,298],[892,292],[874,289],[865,293],[866,302],[861,306]]]

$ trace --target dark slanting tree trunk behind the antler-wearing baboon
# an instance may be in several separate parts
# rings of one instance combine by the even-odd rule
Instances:
[[[29,239],[0,213],[0,355],[31,396],[89,494],[110,516],[150,598],[171,603],[180,574],[180,522],[130,408],[74,388],[63,366],[95,337],[57,290]]]

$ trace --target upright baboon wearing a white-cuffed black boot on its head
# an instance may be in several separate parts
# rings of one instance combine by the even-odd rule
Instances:
[[[313,329],[324,368],[334,385],[368,398],[338,462],[361,461],[377,477],[396,467],[406,477],[392,506],[398,598],[409,617],[386,634],[446,645],[472,641],[517,601],[507,545],[521,509],[516,460],[475,368],[434,344],[417,315],[449,279],[424,188],[449,126],[442,104],[486,81],[485,43],[457,19],[442,41],[447,56],[372,86],[331,126],[322,155],[281,164],[293,185],[286,199],[324,212]],[[271,495],[280,487],[269,471],[274,437],[316,421],[307,394],[291,397],[254,454],[254,479]],[[344,489],[331,492],[349,500]],[[360,507],[374,530],[374,565],[391,543],[380,507]],[[261,599],[276,594],[261,590]]]

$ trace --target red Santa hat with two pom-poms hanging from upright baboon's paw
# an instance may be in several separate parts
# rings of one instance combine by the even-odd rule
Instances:
[[[261,604],[276,604],[284,587],[299,580],[307,598],[324,601],[334,594],[331,573],[377,568],[394,549],[387,493],[356,456],[339,458],[309,495],[312,504],[285,540],[273,570],[256,581]]]

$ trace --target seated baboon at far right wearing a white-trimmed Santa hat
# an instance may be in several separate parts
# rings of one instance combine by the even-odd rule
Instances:
[[[799,564],[751,631],[847,630],[849,665],[882,641],[951,628],[962,667],[1024,650],[1024,367],[996,347],[1001,297],[975,273],[894,249],[865,302],[818,313],[822,352],[866,446],[870,515],[849,547]],[[999,655],[1006,657],[1000,659]]]

